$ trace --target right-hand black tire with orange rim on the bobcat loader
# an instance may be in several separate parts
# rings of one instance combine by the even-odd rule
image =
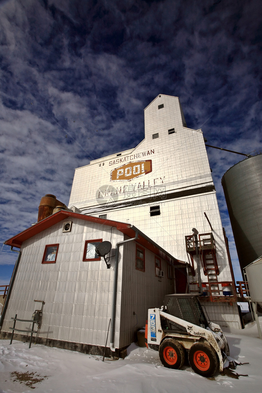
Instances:
[[[212,347],[205,343],[194,343],[188,353],[189,364],[195,373],[211,377],[218,369],[218,358]]]

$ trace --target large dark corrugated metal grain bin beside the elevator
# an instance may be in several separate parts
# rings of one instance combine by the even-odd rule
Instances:
[[[262,154],[231,167],[222,186],[243,274],[262,255]]]

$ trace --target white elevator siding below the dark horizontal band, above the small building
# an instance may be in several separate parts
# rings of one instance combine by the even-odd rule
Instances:
[[[161,214],[159,216],[150,217],[150,206],[153,205],[160,206]],[[204,216],[204,211],[213,227],[216,257],[220,271],[218,280],[232,281],[215,193],[111,210],[106,214],[109,220],[132,223],[171,255],[181,261],[188,261],[185,235],[191,235],[192,228],[197,228],[199,233],[212,232]],[[202,280],[206,281],[203,269],[201,269],[201,273]]]

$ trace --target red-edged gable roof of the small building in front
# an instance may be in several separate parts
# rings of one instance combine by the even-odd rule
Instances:
[[[135,226],[131,224],[126,224],[125,222],[107,220],[107,219],[100,219],[98,217],[92,217],[84,214],[73,213],[71,211],[66,210],[59,210],[57,213],[52,214],[51,216],[47,217],[46,219],[37,222],[36,224],[30,226],[29,228],[25,229],[24,231],[18,233],[17,235],[11,237],[10,239],[6,240],[4,244],[20,248],[22,242],[30,239],[30,237],[37,235],[38,233],[50,228],[51,226],[57,224],[58,222],[65,220],[65,219],[80,219],[83,221],[88,222],[96,222],[97,224],[103,224],[110,227],[115,227],[117,230],[122,232],[124,235],[132,238],[135,237],[136,231],[138,231],[138,238],[136,242],[147,248],[148,250],[154,252],[156,255],[165,259],[172,265],[181,265],[185,266],[185,262],[179,261],[172,255],[170,255],[167,251],[161,248],[158,244],[156,244],[152,239],[147,237],[143,232],[139,231]]]

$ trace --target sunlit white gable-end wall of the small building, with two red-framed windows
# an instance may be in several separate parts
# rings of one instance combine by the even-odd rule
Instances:
[[[15,283],[9,299],[2,331],[9,331],[11,317],[31,319],[44,300],[40,337],[70,342],[104,345],[112,309],[113,268],[104,260],[83,262],[86,240],[103,239],[115,243],[123,234],[110,227],[73,219],[70,233],[62,233],[63,222],[24,242]],[[59,243],[56,263],[41,264],[46,244]],[[110,259],[114,265],[114,258]],[[30,329],[17,322],[17,329]],[[118,334],[116,344],[118,344]]]

